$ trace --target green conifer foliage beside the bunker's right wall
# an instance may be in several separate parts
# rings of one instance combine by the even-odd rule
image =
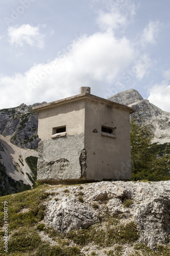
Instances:
[[[136,118],[131,120],[132,180],[169,180],[167,159],[152,150],[153,134],[148,126],[140,125]]]

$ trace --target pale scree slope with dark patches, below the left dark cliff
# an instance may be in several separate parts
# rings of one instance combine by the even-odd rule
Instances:
[[[30,168],[30,160],[36,160],[38,152],[18,147],[8,137],[0,135],[0,196],[31,189],[36,171]]]

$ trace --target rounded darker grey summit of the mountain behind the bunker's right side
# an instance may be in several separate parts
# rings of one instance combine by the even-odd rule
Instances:
[[[131,105],[135,102],[143,100],[140,93],[135,89],[129,89],[124,92],[117,93],[109,97],[108,99],[124,105]]]

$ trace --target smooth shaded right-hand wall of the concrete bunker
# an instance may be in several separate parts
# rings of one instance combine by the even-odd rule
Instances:
[[[116,138],[102,136],[102,125],[116,127]],[[129,112],[86,99],[85,148],[87,179],[131,178]]]

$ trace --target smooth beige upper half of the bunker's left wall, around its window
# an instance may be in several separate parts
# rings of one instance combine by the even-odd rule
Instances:
[[[50,140],[53,128],[66,125],[69,135],[84,133],[85,102],[84,100],[67,102],[40,110],[38,119],[38,136],[41,140]]]

